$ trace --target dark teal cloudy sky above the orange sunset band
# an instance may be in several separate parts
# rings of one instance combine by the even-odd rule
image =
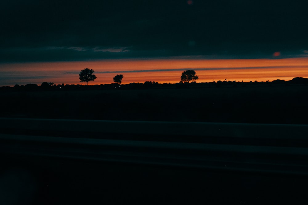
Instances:
[[[0,62],[300,56],[308,1],[0,2]]]

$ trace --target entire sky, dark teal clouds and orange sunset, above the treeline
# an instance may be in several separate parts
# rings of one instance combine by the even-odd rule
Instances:
[[[0,86],[308,77],[307,1],[0,2]],[[120,73],[125,71],[124,73]],[[75,78],[75,79],[74,79]],[[90,83],[90,84],[91,84]]]

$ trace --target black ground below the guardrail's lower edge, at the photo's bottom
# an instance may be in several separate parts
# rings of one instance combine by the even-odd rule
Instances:
[[[9,161],[8,161],[9,160]],[[307,176],[6,157],[1,204],[305,204]]]

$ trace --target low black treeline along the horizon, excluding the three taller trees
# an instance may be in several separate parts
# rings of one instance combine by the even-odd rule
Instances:
[[[51,82],[43,82],[41,85],[37,84],[27,84],[27,85],[15,85],[13,87],[10,86],[2,86],[0,90],[8,90],[8,91],[46,91],[46,90],[105,90],[105,89],[163,89],[163,88],[203,88],[203,87],[237,87],[237,86],[251,86],[251,85],[308,85],[308,78],[303,77],[295,77],[290,81],[285,80],[274,80],[274,81],[266,81],[266,82],[258,82],[258,81],[250,81],[250,82],[240,82],[240,81],[213,81],[209,83],[157,83],[155,81],[145,81],[144,83],[130,83],[119,85],[117,83],[112,84],[100,84],[100,85],[54,85]]]

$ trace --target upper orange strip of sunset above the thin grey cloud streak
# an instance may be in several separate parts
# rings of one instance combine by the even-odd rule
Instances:
[[[246,68],[308,65],[307,58],[285,59],[136,59],[3,64],[2,71],[78,71],[84,68],[95,71],[128,71],[180,68]]]

